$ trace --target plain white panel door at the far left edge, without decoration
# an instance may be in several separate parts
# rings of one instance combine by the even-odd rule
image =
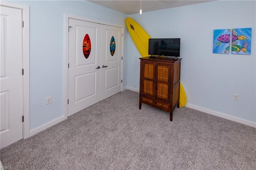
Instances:
[[[23,138],[22,10],[0,6],[0,147]]]

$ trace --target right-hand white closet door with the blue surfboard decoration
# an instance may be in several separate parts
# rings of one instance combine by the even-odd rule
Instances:
[[[102,26],[100,100],[121,91],[122,42],[122,28]]]

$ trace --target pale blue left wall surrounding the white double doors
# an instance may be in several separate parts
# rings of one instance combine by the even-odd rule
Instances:
[[[127,15],[85,0],[12,3],[30,6],[30,130],[34,130],[64,114],[64,14],[124,27]],[[52,103],[45,105],[50,96]]]

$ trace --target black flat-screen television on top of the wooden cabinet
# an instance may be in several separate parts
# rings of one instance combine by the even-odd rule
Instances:
[[[148,54],[180,57],[180,38],[150,38]]]

